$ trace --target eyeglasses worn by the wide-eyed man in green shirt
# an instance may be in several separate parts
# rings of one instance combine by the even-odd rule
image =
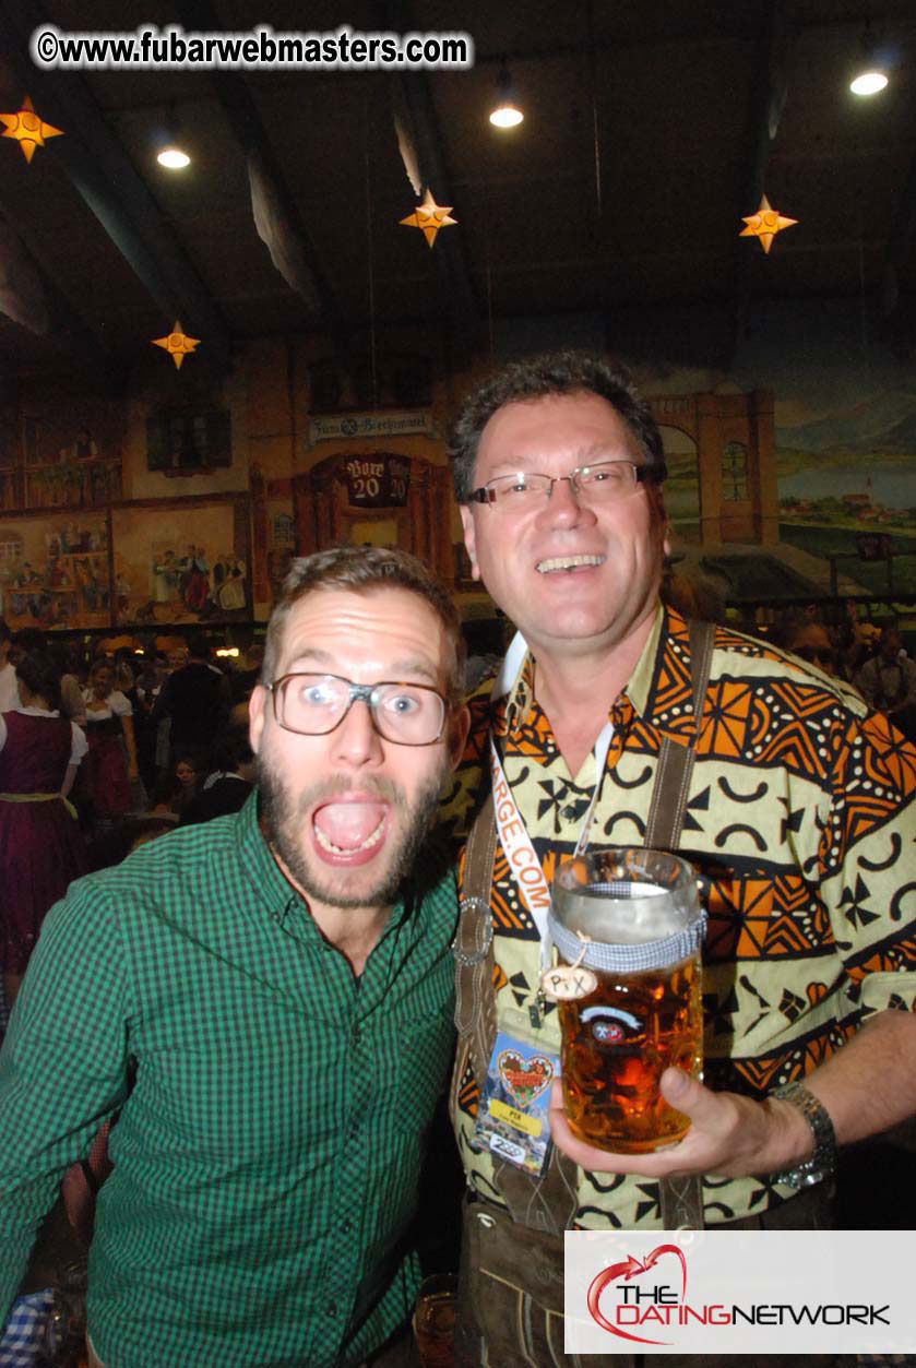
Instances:
[[[358,700],[369,709],[379,736],[398,746],[432,746],[446,729],[450,703],[428,684],[379,680],[354,684],[339,674],[282,674],[267,688],[273,717],[287,732],[327,736]]]

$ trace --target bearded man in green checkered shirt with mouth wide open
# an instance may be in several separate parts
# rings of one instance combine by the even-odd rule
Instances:
[[[103,1120],[92,1368],[332,1368],[409,1321],[454,1048],[463,646],[413,557],[294,562],[250,702],[258,789],[71,885],[0,1056],[0,1317]]]

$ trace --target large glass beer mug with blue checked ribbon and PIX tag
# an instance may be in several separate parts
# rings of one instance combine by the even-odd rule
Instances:
[[[541,985],[559,1004],[570,1130],[625,1155],[673,1145],[690,1119],[662,1096],[662,1074],[703,1071],[693,870],[666,851],[593,848],[558,866],[551,895],[559,966]]]

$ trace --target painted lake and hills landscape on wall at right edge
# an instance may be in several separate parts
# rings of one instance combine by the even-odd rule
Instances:
[[[912,360],[883,343],[861,301],[770,306],[736,367],[738,383],[751,376],[775,395],[781,544],[826,566],[841,594],[916,594]],[[874,534],[890,561],[874,555]]]

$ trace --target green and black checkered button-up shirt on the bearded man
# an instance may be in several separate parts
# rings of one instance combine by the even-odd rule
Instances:
[[[123,1103],[89,1265],[89,1330],[118,1368],[351,1364],[416,1294],[453,874],[421,859],[355,978],[256,802],[74,884],[0,1056],[3,1317],[63,1170]]]

